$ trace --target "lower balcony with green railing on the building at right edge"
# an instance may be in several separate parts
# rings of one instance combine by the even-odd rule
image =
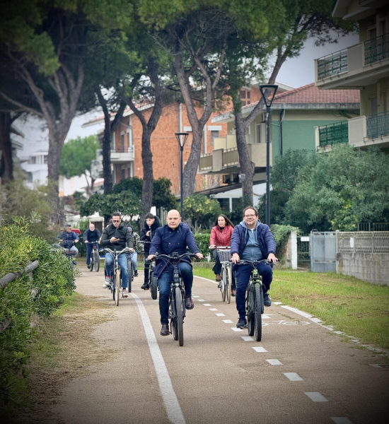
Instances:
[[[381,112],[337,124],[318,126],[315,136],[319,153],[328,151],[340,143],[349,143],[359,148],[368,146],[389,148],[389,113]]]

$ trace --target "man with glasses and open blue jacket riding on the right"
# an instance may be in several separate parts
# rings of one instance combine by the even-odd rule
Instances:
[[[243,210],[243,221],[236,225],[231,237],[231,254],[234,264],[238,264],[240,259],[246,261],[260,261],[267,259],[271,262],[277,262],[275,256],[276,242],[266,224],[262,224],[258,217],[258,211],[252,206]],[[243,328],[247,325],[245,317],[245,293],[250,280],[252,267],[250,264],[236,266],[236,309],[239,314],[239,321],[236,326]],[[262,276],[262,282],[265,288],[263,295],[264,305],[272,305],[267,291],[270,289],[270,283],[273,279],[273,269],[269,264],[257,264],[257,270]]]

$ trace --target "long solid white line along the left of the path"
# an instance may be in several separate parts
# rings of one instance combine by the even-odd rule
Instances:
[[[165,404],[166,413],[171,423],[174,424],[185,424],[185,418],[182,414],[180,404],[177,399],[177,395],[173,389],[173,384],[170,379],[168,368],[166,367],[165,360],[161,353],[161,349],[158,346],[156,335],[151,326],[149,314],[147,314],[146,308],[143,302],[138,298],[135,293],[131,293],[132,297],[137,302],[139,313],[141,314],[141,320],[144,326],[144,332],[146,334],[147,343],[153,358],[154,368],[156,369],[156,375],[158,379],[159,389],[161,390],[161,396],[163,404]]]

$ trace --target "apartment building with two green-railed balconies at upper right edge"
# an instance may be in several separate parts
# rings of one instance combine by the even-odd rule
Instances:
[[[335,126],[319,126],[316,145],[337,143],[389,152],[389,2],[337,0],[332,16],[359,23],[359,43],[315,60],[315,86],[321,90],[357,89],[361,116]]]

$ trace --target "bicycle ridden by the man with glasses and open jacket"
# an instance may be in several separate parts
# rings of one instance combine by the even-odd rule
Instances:
[[[245,261],[240,260],[239,265],[249,264],[252,266],[250,280],[248,281],[248,286],[246,290],[246,315],[247,315],[247,327],[248,335],[254,336],[255,340],[262,340],[262,314],[264,312],[264,302],[263,302],[263,283],[262,276],[258,273],[256,268],[257,264],[273,264],[273,262],[268,261],[267,259],[262,259],[261,261]]]

